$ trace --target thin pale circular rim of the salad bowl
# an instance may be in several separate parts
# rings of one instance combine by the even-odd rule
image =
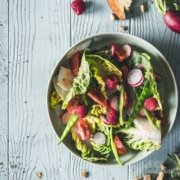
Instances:
[[[130,37],[130,38],[135,38],[137,40],[140,40],[140,41],[143,41],[144,43],[146,43],[147,45],[151,46],[152,48],[154,48],[158,55],[161,57],[161,60],[163,60],[163,62],[165,63],[165,65],[168,67],[169,71],[170,71],[170,74],[171,74],[171,77],[173,79],[173,83],[174,83],[174,88],[175,88],[175,96],[177,97],[177,102],[175,104],[175,113],[174,113],[174,117],[173,117],[173,121],[172,123],[170,124],[170,127],[168,129],[168,131],[166,132],[166,134],[164,135],[164,137],[162,138],[162,142],[161,142],[161,145],[162,143],[164,142],[164,139],[167,138],[167,136],[169,135],[170,131],[172,130],[172,127],[175,123],[175,120],[176,120],[176,116],[177,116],[177,111],[178,111],[178,102],[179,102],[179,96],[178,96],[178,86],[177,86],[177,83],[176,83],[176,78],[174,76],[174,73],[173,73],[173,70],[169,64],[169,62],[167,61],[166,57],[154,46],[152,45],[151,43],[149,43],[148,41],[146,41],[145,39],[141,38],[141,37],[138,37],[138,36],[135,36],[135,35],[132,35],[132,34],[127,34],[127,33],[122,33],[122,32],[104,32],[104,33],[97,33],[97,34],[93,34],[93,35],[90,35],[90,36],[87,36],[79,41],[77,41],[76,43],[74,43],[72,46],[70,46],[64,53],[63,55],[59,58],[59,60],[57,61],[57,63],[55,64],[55,66],[53,67],[52,71],[51,71],[51,74],[50,74],[50,78],[48,80],[48,87],[47,87],[47,92],[46,92],[46,108],[48,110],[48,117],[49,117],[49,120],[51,122],[51,127],[53,128],[53,131],[55,132],[55,134],[57,135],[57,137],[59,138],[56,130],[54,129],[54,126],[53,126],[53,123],[52,123],[52,120],[51,120],[51,116],[50,116],[50,108],[49,108],[49,90],[50,90],[50,84],[52,82],[52,78],[53,78],[53,75],[54,75],[54,71],[55,69],[57,69],[57,67],[60,65],[62,59],[64,59],[66,57],[66,55],[73,49],[75,48],[76,46],[78,46],[79,44],[83,43],[83,42],[86,42],[88,40],[91,40],[93,38],[96,38],[96,37],[99,37],[99,36],[124,36],[124,37]],[[66,149],[69,150],[69,152],[71,152],[73,154],[73,156],[75,157],[78,157],[79,159],[83,160],[83,161],[86,161],[88,163],[91,163],[93,165],[97,165],[97,166],[105,166],[105,167],[108,167],[108,166],[119,166],[118,163],[96,163],[96,162],[90,162],[90,161],[87,161],[85,159],[83,159],[82,157],[80,157],[80,155],[77,155],[75,152],[73,152],[70,148],[68,148],[64,142],[62,142],[62,144],[66,147]],[[146,154],[142,154],[141,157],[138,157],[138,160],[135,160],[135,157],[138,156],[140,153],[142,153],[143,151],[137,153],[132,159],[128,160],[127,162],[124,163],[123,167],[125,166],[129,166],[133,163],[136,163],[136,162],[139,162],[140,160],[146,158],[147,156],[149,156],[150,154],[152,154],[155,150],[152,150],[152,151],[148,151],[146,152]],[[134,160],[133,160],[134,159]],[[129,162],[130,161],[130,162]]]

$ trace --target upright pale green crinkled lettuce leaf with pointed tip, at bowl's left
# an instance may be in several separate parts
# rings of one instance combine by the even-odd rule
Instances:
[[[81,65],[79,67],[78,76],[73,80],[73,86],[67,94],[62,104],[62,109],[66,109],[69,101],[78,94],[84,94],[90,83],[90,69],[89,64],[86,61],[86,51],[83,53]]]

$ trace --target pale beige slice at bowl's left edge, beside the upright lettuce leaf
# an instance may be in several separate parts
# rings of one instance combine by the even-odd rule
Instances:
[[[57,85],[63,90],[69,91],[72,87],[73,79],[74,76],[71,70],[61,66],[58,74]]]

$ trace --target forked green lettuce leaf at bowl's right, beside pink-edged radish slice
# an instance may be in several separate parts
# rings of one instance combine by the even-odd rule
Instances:
[[[154,78],[154,71],[150,60],[151,58],[149,55],[134,51],[129,62],[131,67],[144,67],[145,80],[142,86],[139,88],[134,88],[134,92],[136,94],[136,103],[133,107],[133,112],[127,121],[126,127],[130,127],[132,125],[134,118],[137,116],[143,106],[144,100],[150,96],[153,96],[158,101],[158,107],[156,110],[162,110],[160,95],[157,90],[157,83]]]

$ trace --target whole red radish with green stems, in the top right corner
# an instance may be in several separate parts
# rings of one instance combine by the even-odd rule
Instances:
[[[177,0],[155,0],[156,7],[164,15],[165,24],[180,34],[180,4]]]

